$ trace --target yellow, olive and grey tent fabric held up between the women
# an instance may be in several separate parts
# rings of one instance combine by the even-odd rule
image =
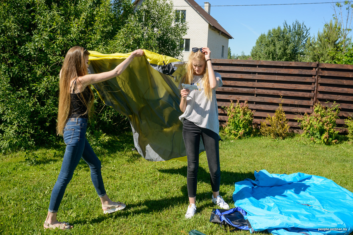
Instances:
[[[91,73],[112,70],[130,55],[89,52]],[[186,161],[178,89],[185,74],[184,63],[148,50],[144,52],[145,55],[135,57],[120,76],[94,84],[94,88],[104,104],[128,118],[134,146],[146,160]]]

